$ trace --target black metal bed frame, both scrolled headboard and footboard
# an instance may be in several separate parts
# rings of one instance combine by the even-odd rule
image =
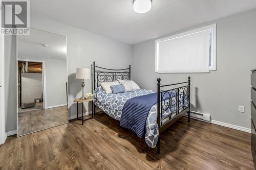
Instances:
[[[124,69],[109,69],[95,65],[92,66],[93,90],[102,82],[114,82],[118,80],[131,80],[131,65]],[[188,81],[161,85],[161,79],[157,79],[157,124],[158,124],[158,142],[157,154],[160,154],[160,134],[168,127],[172,126],[180,117],[187,113],[188,122],[190,122],[190,77]],[[179,86],[180,85],[180,86]],[[179,86],[168,90],[161,90],[163,87]],[[167,95],[167,97],[166,97]],[[163,99],[163,96],[164,99]],[[174,109],[168,117],[166,123],[163,124],[162,112],[164,110]],[[95,113],[96,105],[93,104],[93,111]],[[160,116],[161,115],[161,116]],[[161,120],[161,121],[160,121]]]

